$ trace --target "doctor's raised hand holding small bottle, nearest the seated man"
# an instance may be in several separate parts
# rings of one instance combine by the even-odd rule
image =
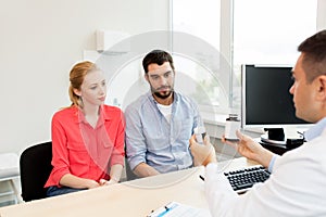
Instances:
[[[195,136],[189,140],[189,149],[193,156],[195,166],[206,166],[209,163],[216,163],[215,149],[210,142],[210,137],[206,135],[203,144],[196,142]]]

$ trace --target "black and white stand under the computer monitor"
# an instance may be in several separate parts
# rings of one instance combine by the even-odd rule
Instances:
[[[261,136],[262,142],[283,146],[287,144],[283,128],[264,128],[264,130],[267,131],[267,133]]]

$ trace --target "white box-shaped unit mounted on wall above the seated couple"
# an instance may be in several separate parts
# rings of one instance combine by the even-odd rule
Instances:
[[[97,30],[97,51],[124,53],[130,51],[129,34],[115,30]]]

